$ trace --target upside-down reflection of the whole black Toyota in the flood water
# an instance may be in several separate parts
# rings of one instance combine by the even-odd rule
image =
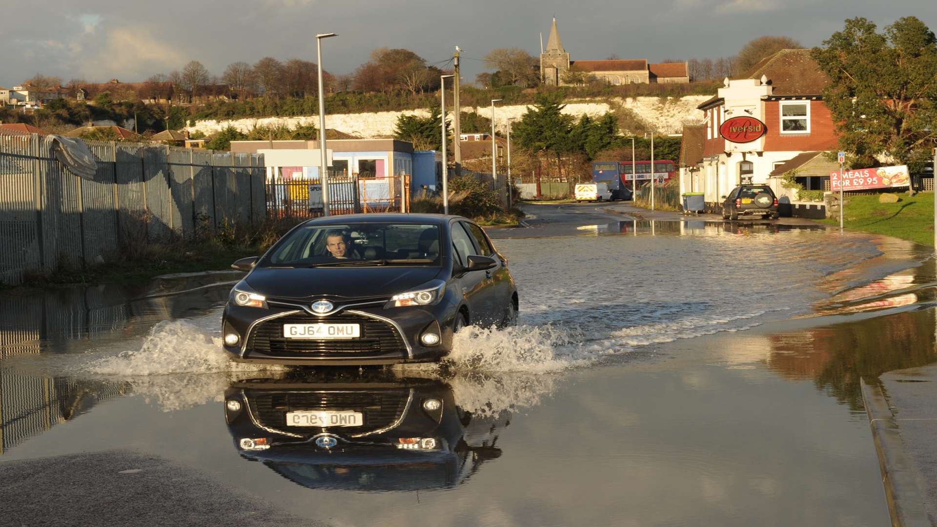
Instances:
[[[432,379],[238,381],[225,392],[225,418],[242,457],[309,488],[447,488],[501,454],[498,424],[462,411]]]

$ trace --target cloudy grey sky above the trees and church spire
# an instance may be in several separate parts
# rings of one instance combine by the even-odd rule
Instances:
[[[12,0],[0,0],[0,9]],[[751,38],[783,35],[819,45],[846,18],[884,27],[914,15],[937,31],[933,0],[33,0],[0,22],[0,85],[37,73],[89,82],[141,82],[198,60],[220,75],[235,61],[264,56],[316,61],[350,73],[374,48],[407,48],[440,63],[462,50],[462,76],[472,82],[495,48],[540,52],[557,17],[573,60],[712,58],[735,54]],[[440,66],[446,66],[440,64]]]

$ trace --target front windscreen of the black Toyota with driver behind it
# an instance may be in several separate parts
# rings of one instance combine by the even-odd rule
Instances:
[[[439,226],[419,223],[306,225],[277,242],[263,267],[439,265]]]

